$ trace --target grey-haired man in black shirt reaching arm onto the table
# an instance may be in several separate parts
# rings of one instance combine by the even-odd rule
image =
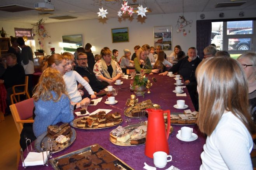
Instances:
[[[188,49],[188,56],[181,59],[176,65],[173,65],[169,71],[173,73],[178,72],[185,81],[185,85],[188,88],[191,100],[196,110],[198,110],[197,100],[197,81],[195,78],[195,70],[201,62],[201,59],[197,57],[197,49],[190,47]]]

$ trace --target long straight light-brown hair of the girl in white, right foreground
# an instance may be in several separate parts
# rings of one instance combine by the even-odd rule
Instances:
[[[249,113],[246,76],[235,59],[207,58],[197,67],[196,77],[199,90],[197,125],[201,132],[210,136],[226,110],[240,119],[251,134],[256,133]]]

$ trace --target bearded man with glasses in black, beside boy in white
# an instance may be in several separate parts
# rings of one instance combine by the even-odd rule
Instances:
[[[77,73],[79,73],[84,78],[84,80],[89,83],[94,92],[99,92],[104,87],[106,87],[108,83],[100,82],[97,80],[92,69],[88,67],[87,60],[87,55],[85,53],[78,53],[77,67],[75,68],[75,71],[77,71]]]

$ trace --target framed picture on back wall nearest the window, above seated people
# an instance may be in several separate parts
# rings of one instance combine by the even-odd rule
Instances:
[[[154,45],[162,46],[164,51],[172,50],[172,26],[154,27]]]

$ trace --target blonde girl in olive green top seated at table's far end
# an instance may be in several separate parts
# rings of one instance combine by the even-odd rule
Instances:
[[[144,70],[146,74],[158,73],[158,69],[153,69],[149,58],[146,56],[144,48],[139,48],[134,59],[134,67],[137,73]]]

